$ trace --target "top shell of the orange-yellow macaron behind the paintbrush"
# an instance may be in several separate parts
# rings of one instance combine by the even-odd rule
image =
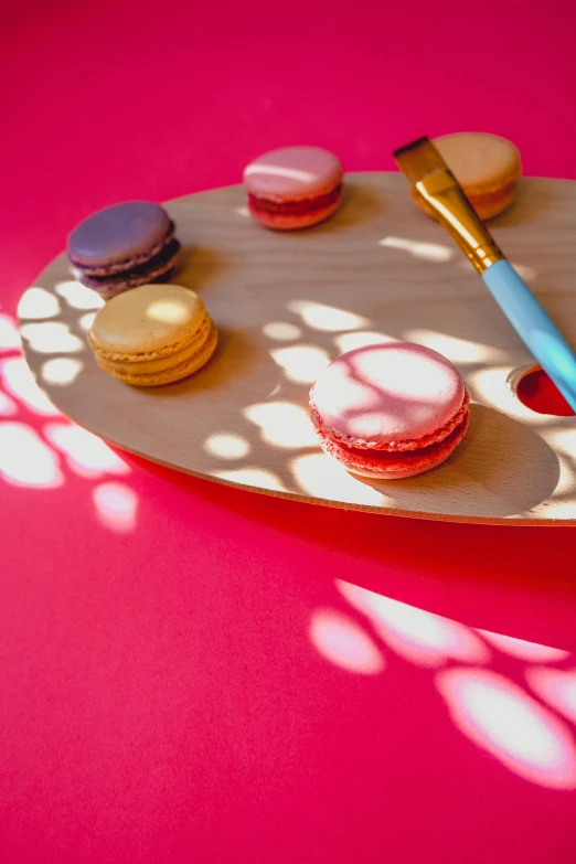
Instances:
[[[473,195],[487,194],[520,177],[520,152],[514,145],[498,135],[457,132],[434,139],[448,168]]]

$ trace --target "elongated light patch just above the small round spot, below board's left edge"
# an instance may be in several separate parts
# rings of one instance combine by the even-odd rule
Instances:
[[[66,456],[68,467],[81,477],[130,473],[126,462],[102,438],[81,426],[51,423],[44,427],[44,435]]]

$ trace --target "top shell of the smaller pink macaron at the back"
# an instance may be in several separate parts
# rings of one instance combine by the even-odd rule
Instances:
[[[342,183],[340,160],[321,147],[284,147],[258,157],[244,171],[248,194],[269,201],[314,198]]]

